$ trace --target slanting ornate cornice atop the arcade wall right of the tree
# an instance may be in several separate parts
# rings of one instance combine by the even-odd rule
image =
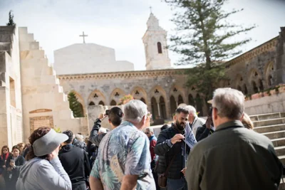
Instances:
[[[266,41],[265,43],[262,43],[260,46],[257,46],[256,48],[253,48],[252,50],[243,53],[241,56],[229,60],[226,63],[226,67],[228,68],[229,66],[235,65],[237,63],[251,60],[252,58],[257,57],[264,52],[275,51],[278,39],[279,36],[276,36],[275,38],[272,38],[270,41]]]

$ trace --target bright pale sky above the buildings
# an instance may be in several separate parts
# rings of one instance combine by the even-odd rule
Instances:
[[[0,26],[6,24],[9,11],[13,10],[14,22],[28,27],[50,63],[53,51],[82,43],[79,35],[84,31],[88,35],[86,43],[114,48],[116,60],[128,60],[134,63],[135,70],[145,70],[142,36],[150,6],[170,37],[175,33],[175,25],[170,21],[173,11],[164,0],[0,0]],[[285,26],[285,0],[229,0],[224,10],[232,9],[244,9],[230,18],[233,23],[257,25],[233,39],[252,38],[242,47],[243,51],[278,36],[280,27]],[[174,65],[179,55],[169,53]]]

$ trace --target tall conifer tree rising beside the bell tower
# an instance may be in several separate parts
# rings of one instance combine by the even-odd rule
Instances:
[[[239,46],[251,41],[245,38],[231,43],[232,37],[255,28],[228,23],[229,16],[242,9],[226,13],[222,10],[226,1],[165,0],[177,10],[172,19],[177,33],[171,36],[169,48],[182,56],[177,65],[193,66],[186,71],[189,77],[185,85],[202,93],[205,100],[212,99],[219,81],[227,79],[224,60],[242,53]]]

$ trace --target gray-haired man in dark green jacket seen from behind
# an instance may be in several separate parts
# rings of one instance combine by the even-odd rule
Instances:
[[[232,88],[214,91],[215,132],[190,152],[188,190],[278,189],[282,164],[270,139],[247,130],[240,122],[244,95]]]

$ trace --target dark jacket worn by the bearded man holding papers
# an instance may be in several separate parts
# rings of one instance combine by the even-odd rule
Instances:
[[[177,142],[173,145],[170,142],[170,139],[179,133],[172,124],[172,127],[160,132],[155,146],[155,154],[159,156],[157,174],[164,173],[171,159],[175,157],[168,171],[167,178],[169,179],[180,179],[183,176],[181,170],[185,167],[185,157],[182,156],[182,146],[185,147],[185,142]],[[189,151],[187,147],[187,152]]]

